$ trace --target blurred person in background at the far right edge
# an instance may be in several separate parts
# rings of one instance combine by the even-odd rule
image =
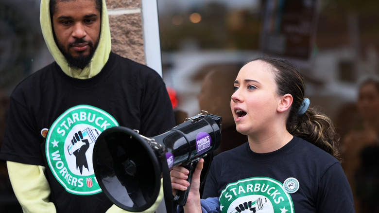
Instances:
[[[357,213],[379,212],[379,78],[367,77],[358,88],[360,119],[341,146],[342,164]]]

